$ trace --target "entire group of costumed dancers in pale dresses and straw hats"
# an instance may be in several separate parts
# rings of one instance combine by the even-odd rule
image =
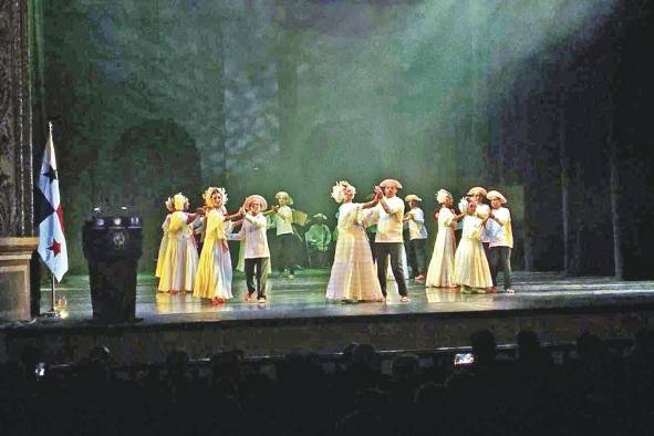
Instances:
[[[388,269],[399,301],[411,301],[403,268],[405,227],[408,227],[408,257],[416,282],[427,287],[459,288],[461,293],[487,293],[496,291],[497,274],[501,271],[504,290],[513,292],[511,216],[501,193],[474,187],[461,198],[457,211],[453,195],[445,189],[438,190],[436,199],[440,208],[435,214],[438,233],[426,268],[428,235],[425,215],[419,207],[422,199],[412,194],[403,201],[397,197],[402,188],[398,180],[385,179],[374,187],[368,201],[354,203],[356,189],[350,183],[342,180],[332,187],[332,198],[341,206],[325,294],[328,301],[384,302]],[[193,292],[194,297],[209,299],[214,304],[232,299],[228,241],[237,240],[241,243],[237,269],[245,271],[246,276],[245,300],[252,301],[257,292],[256,300],[266,303],[267,278],[271,270],[267,238],[270,225],[274,225],[280,241],[276,264],[280,273],[288,268],[289,278],[294,274],[290,256],[294,238],[292,198],[280,191],[276,195],[278,204],[269,209],[262,196],[251,195],[238,211],[230,215],[224,188],[209,187],[203,197],[205,206],[195,214],[188,212],[188,199],[181,194],[166,201],[169,214],[162,226],[164,237],[156,268],[158,290]],[[485,199],[490,206],[484,203]],[[406,212],[405,201],[409,206]],[[201,235],[199,257],[194,228]],[[371,237],[371,229],[374,229],[374,237]],[[457,229],[461,230],[458,247]]]

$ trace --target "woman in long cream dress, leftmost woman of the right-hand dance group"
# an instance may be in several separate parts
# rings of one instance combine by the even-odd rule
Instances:
[[[454,283],[454,253],[456,251],[456,237],[454,230],[456,224],[465,214],[455,215],[453,208],[454,199],[451,194],[439,189],[436,194],[436,201],[440,206],[438,211],[438,233],[434,242],[434,252],[427,270],[427,287],[456,288]]]

